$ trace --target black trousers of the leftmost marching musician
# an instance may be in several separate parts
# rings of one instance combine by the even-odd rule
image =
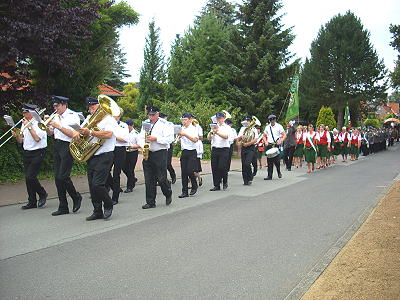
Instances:
[[[46,149],[37,149],[32,151],[24,151],[23,162],[25,171],[25,183],[26,190],[28,192],[29,203],[36,204],[37,198],[46,196],[46,191],[37,179],[37,175],[40,171],[40,166],[42,165],[44,156],[46,154]]]

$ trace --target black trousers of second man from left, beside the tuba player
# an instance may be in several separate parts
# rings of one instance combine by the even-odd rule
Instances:
[[[79,197],[70,177],[73,163],[74,160],[69,152],[69,142],[56,140],[54,144],[54,178],[60,211],[68,211],[67,192],[74,203]]]

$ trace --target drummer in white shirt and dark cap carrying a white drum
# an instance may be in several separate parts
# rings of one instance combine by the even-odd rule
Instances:
[[[286,139],[286,133],[282,125],[276,122],[275,115],[268,116],[269,124],[264,130],[264,142],[267,145],[266,150],[268,151],[272,147],[280,147],[284,140]],[[267,157],[268,163],[268,176],[264,180],[272,180],[272,175],[274,172],[274,165],[278,173],[278,177],[282,178],[281,166],[280,166],[280,155],[275,157]]]

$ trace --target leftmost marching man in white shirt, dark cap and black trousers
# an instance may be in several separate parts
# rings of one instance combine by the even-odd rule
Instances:
[[[24,117],[21,126],[21,135],[12,131],[18,143],[24,148],[23,164],[25,172],[25,184],[28,192],[28,203],[22,209],[43,207],[47,200],[47,192],[37,179],[40,167],[43,163],[47,147],[46,132],[38,127],[38,122],[32,114],[37,114],[38,106],[34,104],[23,104],[22,115]],[[39,201],[36,198],[39,196]]]

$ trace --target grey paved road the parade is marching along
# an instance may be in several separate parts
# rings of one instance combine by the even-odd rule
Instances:
[[[399,147],[314,174],[257,176],[143,211],[143,186],[110,221],[91,205],[51,217],[0,208],[2,299],[295,299],[351,236],[400,171]],[[174,186],[178,195],[179,182]],[[324,194],[322,194],[324,193]]]

